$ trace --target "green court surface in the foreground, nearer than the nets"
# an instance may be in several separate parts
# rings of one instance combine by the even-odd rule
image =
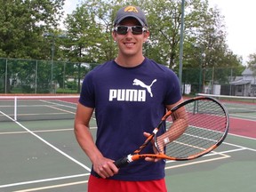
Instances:
[[[91,163],[73,124],[72,119],[2,122],[0,191],[86,191]],[[94,121],[91,126],[95,135]],[[255,159],[255,138],[229,134],[214,154],[167,162],[168,191],[255,191]]]

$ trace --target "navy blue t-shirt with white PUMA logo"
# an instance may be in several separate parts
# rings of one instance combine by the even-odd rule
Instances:
[[[165,114],[165,105],[180,100],[178,77],[169,68],[146,58],[135,68],[115,60],[94,68],[84,77],[79,102],[95,108],[96,145],[103,156],[117,160],[132,153]],[[153,153],[152,146],[143,153]],[[121,168],[113,180],[159,180],[164,178],[164,160],[139,160]],[[92,170],[92,174],[94,174]]]

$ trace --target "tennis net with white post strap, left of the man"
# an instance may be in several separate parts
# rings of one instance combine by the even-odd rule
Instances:
[[[0,96],[0,122],[73,119],[79,96]]]

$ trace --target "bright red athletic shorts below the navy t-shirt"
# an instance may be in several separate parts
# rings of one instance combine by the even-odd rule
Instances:
[[[88,192],[167,192],[165,180],[124,181],[105,180],[90,176]]]

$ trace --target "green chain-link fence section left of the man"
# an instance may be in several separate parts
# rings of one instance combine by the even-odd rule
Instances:
[[[77,93],[98,64],[0,58],[0,93]]]

